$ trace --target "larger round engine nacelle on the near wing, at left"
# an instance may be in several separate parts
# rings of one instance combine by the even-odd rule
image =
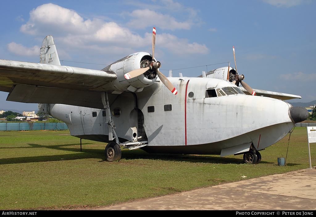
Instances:
[[[111,81],[111,84],[107,84],[102,88],[106,90],[108,87],[109,90],[113,90],[114,86],[117,91],[138,92],[142,91],[144,87],[153,85],[157,79],[157,74],[154,70],[148,70],[146,73],[128,80],[124,77],[125,73],[135,69],[148,67],[151,60],[152,56],[149,53],[139,52],[112,63],[102,69],[102,71],[116,73],[117,79]]]

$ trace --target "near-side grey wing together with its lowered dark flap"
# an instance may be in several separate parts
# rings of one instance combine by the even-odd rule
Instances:
[[[0,91],[9,92],[8,101],[103,108],[100,90],[116,78],[114,72],[0,60]]]

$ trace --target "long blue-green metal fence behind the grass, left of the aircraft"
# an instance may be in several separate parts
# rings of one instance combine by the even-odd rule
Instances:
[[[0,123],[0,131],[68,130],[66,123]]]

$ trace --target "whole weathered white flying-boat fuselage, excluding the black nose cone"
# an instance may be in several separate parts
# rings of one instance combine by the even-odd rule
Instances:
[[[250,144],[262,150],[294,126],[291,105],[284,101],[245,95],[220,79],[169,80],[177,95],[157,79],[141,92],[112,97],[111,116],[120,142],[146,136],[148,146],[143,149],[152,153],[230,155],[245,147],[249,150]],[[64,121],[72,136],[109,142],[106,109],[63,104],[42,107]]]

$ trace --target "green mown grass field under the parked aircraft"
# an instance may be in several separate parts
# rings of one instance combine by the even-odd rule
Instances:
[[[143,150],[123,150],[120,161],[107,162],[105,143],[82,140],[80,152],[80,139],[69,131],[0,132],[0,209],[107,206],[309,168],[306,128],[295,128],[288,140],[289,135],[262,150],[262,161],[254,165],[244,164],[243,155]],[[277,158],[286,154],[286,166],[278,166]]]

